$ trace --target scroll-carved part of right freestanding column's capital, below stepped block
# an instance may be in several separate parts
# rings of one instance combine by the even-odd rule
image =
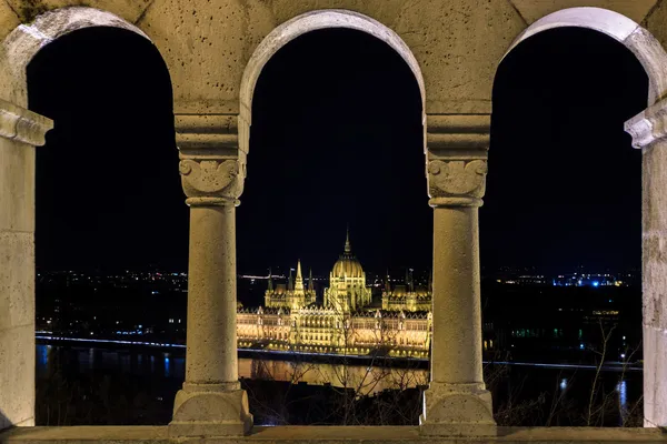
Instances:
[[[486,189],[486,160],[431,160],[428,162],[428,184],[431,204],[477,205]]]

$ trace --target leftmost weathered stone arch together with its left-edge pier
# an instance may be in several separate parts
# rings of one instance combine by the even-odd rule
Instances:
[[[0,261],[0,430],[34,423],[34,147],[53,122],[27,110],[28,67],[52,41],[89,28],[130,31],[152,44],[125,19],[82,7],[44,12],[0,44],[0,251],[8,252]]]

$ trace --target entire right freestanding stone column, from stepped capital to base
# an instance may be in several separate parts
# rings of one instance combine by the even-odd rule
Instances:
[[[427,117],[427,179],[434,208],[430,384],[420,432],[496,433],[481,366],[478,208],[485,193],[489,115]]]

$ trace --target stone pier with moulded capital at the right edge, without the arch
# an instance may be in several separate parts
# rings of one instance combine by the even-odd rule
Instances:
[[[667,100],[626,122],[641,149],[644,425],[667,426]]]

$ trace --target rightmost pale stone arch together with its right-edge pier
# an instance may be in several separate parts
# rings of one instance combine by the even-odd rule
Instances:
[[[641,254],[644,424],[667,424],[667,319],[656,313],[667,306],[664,260],[667,218],[667,52],[659,41],[631,19],[600,8],[570,8],[548,14],[526,29],[509,47],[506,57],[526,39],[556,28],[586,28],[601,32],[627,48],[648,78],[648,108],[625,122],[633,147],[641,149]]]

